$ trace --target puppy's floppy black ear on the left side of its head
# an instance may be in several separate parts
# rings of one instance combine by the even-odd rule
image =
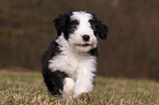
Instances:
[[[68,13],[59,14],[58,18],[53,20],[58,36],[61,35],[61,32],[65,32],[66,25],[68,24],[68,21],[69,21]]]

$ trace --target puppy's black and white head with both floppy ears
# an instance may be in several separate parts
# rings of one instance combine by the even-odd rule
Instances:
[[[96,35],[105,39],[109,31],[94,14],[82,11],[60,14],[54,24],[58,36],[64,35],[70,45],[83,52],[95,48]]]

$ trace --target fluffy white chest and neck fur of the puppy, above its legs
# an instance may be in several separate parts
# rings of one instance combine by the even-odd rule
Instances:
[[[52,71],[66,72],[72,79],[76,79],[80,72],[95,72],[96,57],[76,51],[63,36],[56,42],[59,44],[61,52],[49,60],[48,68]]]

